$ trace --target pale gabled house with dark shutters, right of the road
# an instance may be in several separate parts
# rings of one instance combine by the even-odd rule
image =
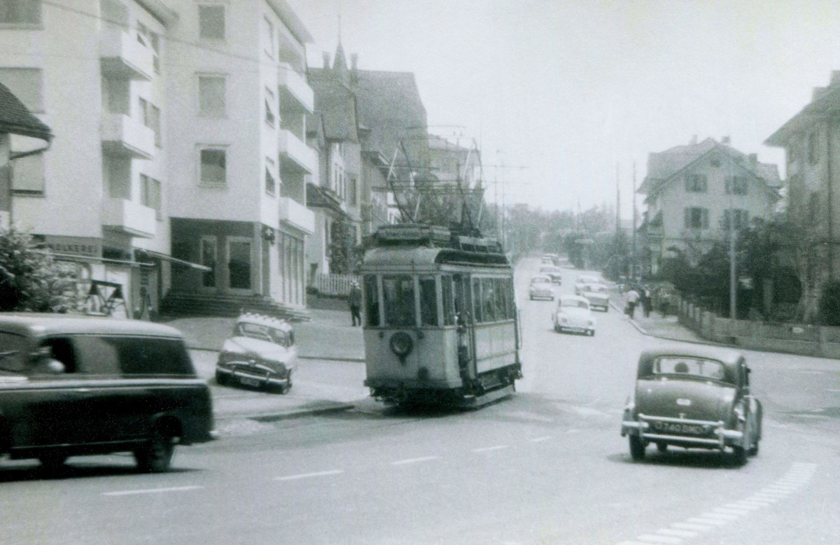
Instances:
[[[648,158],[648,175],[638,192],[646,195],[643,269],[657,275],[663,260],[678,249],[696,262],[730,228],[769,218],[779,200],[776,165],[732,148],[728,139],[692,139]]]

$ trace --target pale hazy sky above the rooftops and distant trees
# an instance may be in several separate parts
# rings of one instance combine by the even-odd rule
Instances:
[[[634,172],[638,187],[650,153],[695,136],[784,178],[764,140],[840,70],[837,1],[286,1],[310,66],[340,13],[361,70],[412,72],[429,132],[479,145],[490,202],[543,210],[614,207],[618,189],[632,217]]]

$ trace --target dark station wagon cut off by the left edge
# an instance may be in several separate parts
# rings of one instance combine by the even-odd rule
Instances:
[[[176,444],[213,435],[210,392],[175,328],[0,314],[0,454],[55,469],[131,452],[139,469],[165,471]]]

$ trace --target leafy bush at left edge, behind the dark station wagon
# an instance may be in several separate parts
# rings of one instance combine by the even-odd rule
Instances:
[[[76,306],[71,267],[38,249],[28,233],[0,229],[0,311],[55,312]]]

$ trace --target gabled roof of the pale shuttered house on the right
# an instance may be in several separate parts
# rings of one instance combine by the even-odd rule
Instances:
[[[738,149],[727,144],[720,144],[715,139],[707,138],[698,144],[675,146],[659,153],[648,156],[648,176],[644,177],[639,193],[651,194],[659,191],[667,182],[673,180],[681,172],[695,165],[697,161],[709,155],[712,151],[729,155],[743,167],[744,170],[759,177],[772,190],[782,186],[777,165],[759,163],[741,153]]]

